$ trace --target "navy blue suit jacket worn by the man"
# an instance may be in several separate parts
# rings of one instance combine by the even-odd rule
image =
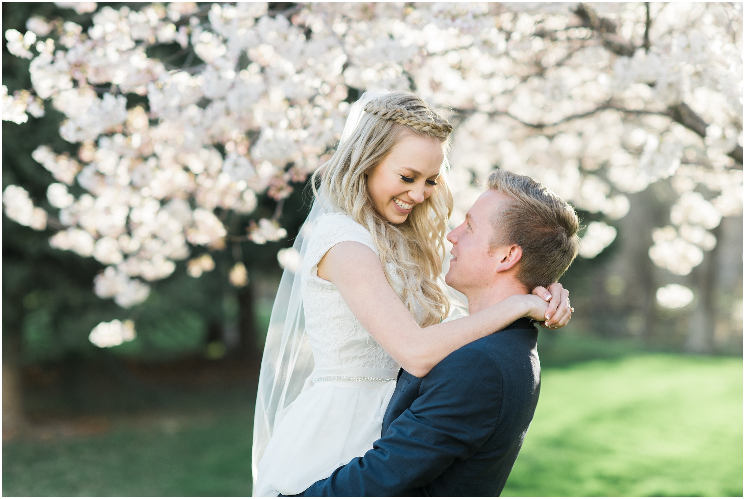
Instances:
[[[299,495],[500,495],[538,403],[537,338],[521,319],[424,378],[402,370],[373,449]]]

